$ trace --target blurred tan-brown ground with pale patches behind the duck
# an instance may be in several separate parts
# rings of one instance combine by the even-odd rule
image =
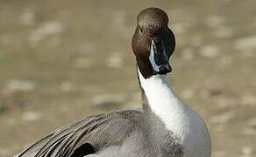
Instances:
[[[255,0],[0,0],[0,156],[75,119],[139,106],[131,41],[151,6],[170,17],[169,78],[209,126],[212,157],[255,157]]]

